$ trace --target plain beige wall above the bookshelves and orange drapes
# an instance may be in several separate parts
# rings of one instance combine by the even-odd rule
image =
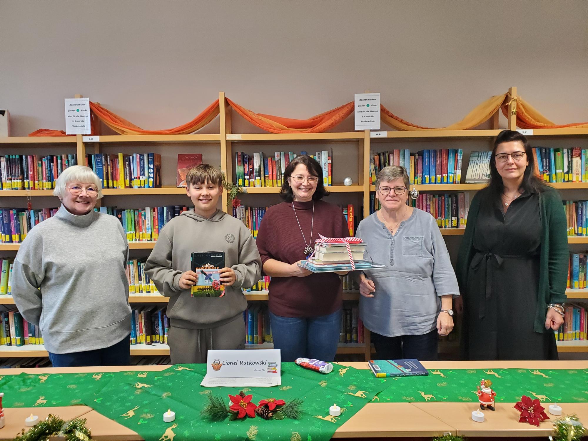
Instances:
[[[588,121],[587,23],[580,0],[0,0],[0,108],[12,135],[63,129],[82,93],[163,129],[219,91],[306,118],[369,89],[442,126],[517,86],[555,122]]]

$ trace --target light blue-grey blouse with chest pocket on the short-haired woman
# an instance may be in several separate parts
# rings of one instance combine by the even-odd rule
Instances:
[[[413,209],[395,235],[376,213],[363,219],[356,236],[368,243],[365,258],[388,268],[364,270],[372,298],[359,298],[359,316],[380,335],[423,335],[436,329],[440,296],[459,295],[445,240],[429,213]]]

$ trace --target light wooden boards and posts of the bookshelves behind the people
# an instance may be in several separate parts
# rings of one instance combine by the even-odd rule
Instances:
[[[512,96],[516,96],[516,88],[511,91]],[[370,192],[375,191],[375,186],[369,184],[370,174],[370,158],[372,151],[379,151],[379,149],[389,149],[386,143],[391,145],[394,143],[396,146],[398,142],[467,142],[475,141],[478,145],[487,145],[482,149],[490,149],[492,147],[492,141],[496,135],[500,132],[500,129],[496,125],[492,125],[492,129],[472,129],[465,131],[381,131],[381,132],[330,132],[330,133],[231,133],[231,116],[232,111],[226,103],[225,95],[223,92],[219,94],[220,98],[220,130],[219,133],[212,134],[196,134],[196,135],[98,135],[98,136],[59,136],[59,137],[28,137],[28,136],[14,136],[10,138],[0,138],[0,150],[2,148],[22,148],[23,152],[25,148],[64,148],[64,152],[71,152],[71,149],[75,148],[78,154],[79,163],[83,163],[84,155],[88,153],[100,152],[101,147],[108,146],[109,148],[121,148],[123,151],[131,151],[133,148],[145,148],[149,145],[170,145],[173,143],[183,145],[193,145],[195,151],[206,144],[212,144],[218,146],[220,153],[220,168],[225,172],[228,179],[233,179],[234,171],[234,150],[237,148],[252,149],[256,146],[263,146],[263,148],[269,148],[269,146],[276,146],[276,149],[285,149],[286,145],[300,145],[305,146],[309,143],[334,143],[333,154],[336,156],[335,168],[337,164],[342,163],[341,161],[357,162],[358,169],[356,175],[353,176],[353,185],[345,186],[340,182],[336,182],[335,185],[326,188],[332,193],[354,193],[353,198],[358,199],[360,195],[361,202],[363,203],[363,213],[359,213],[359,207],[356,213],[358,218],[367,217],[369,213],[370,205]],[[515,108],[516,102],[511,104],[511,108]],[[495,115],[496,116],[496,115]],[[497,121],[493,118],[492,121]],[[515,119],[509,118],[509,128],[516,129]],[[547,138],[547,139],[560,139],[560,138],[586,138],[588,135],[588,129],[536,129],[532,135],[527,135],[533,142],[533,139]],[[543,142],[543,140],[541,141]],[[373,145],[372,145],[373,143]],[[357,146],[357,156],[353,158],[345,158],[342,153],[338,151],[338,148],[349,149],[348,145],[355,144]],[[281,147],[284,146],[284,148]],[[432,145],[432,147],[435,145]],[[410,145],[406,145],[406,148],[410,148]],[[306,146],[303,149],[307,149]],[[410,148],[415,151],[417,148]],[[420,149],[420,146],[419,148]],[[339,153],[338,153],[339,152]],[[337,156],[339,155],[339,156]],[[163,158],[163,161],[169,161],[169,159]],[[355,178],[357,176],[357,179]],[[464,175],[465,176],[465,175]],[[342,179],[343,176],[338,177]],[[462,177],[463,179],[463,177]],[[553,188],[560,189],[562,191],[567,190],[586,190],[588,189],[588,182],[572,182],[572,183],[550,183],[549,185]],[[415,185],[416,189],[420,192],[475,192],[485,188],[486,184],[436,184],[436,185]],[[413,186],[411,186],[412,188]],[[265,200],[270,198],[264,198],[263,195],[276,195],[279,193],[279,188],[245,188],[246,193],[250,198],[255,198],[259,202],[250,202],[250,205],[267,205]],[[0,191],[0,197],[12,196],[12,197],[52,197],[52,190],[19,190],[19,191]],[[103,189],[103,195],[106,197],[106,203],[108,204],[109,196],[153,196],[162,198],[166,195],[184,195],[185,189],[176,188],[174,186],[165,186],[162,188],[153,189]],[[275,196],[273,196],[275,198]],[[342,198],[343,196],[338,196]],[[259,199],[258,199],[259,198]],[[228,195],[226,192],[223,194],[222,206],[226,207],[228,203]],[[22,204],[22,202],[19,202]],[[354,202],[356,203],[356,202]],[[56,206],[58,201],[51,203]],[[6,204],[7,205],[7,204]],[[130,205],[130,204],[129,204]],[[132,205],[131,205],[132,206]],[[464,229],[447,228],[440,230],[443,236],[460,236],[463,235]],[[584,244],[588,243],[588,236],[569,236],[568,242],[570,244]],[[131,242],[129,248],[132,250],[148,250],[153,249],[155,246],[154,241],[144,242]],[[16,252],[19,249],[18,243],[3,243],[0,244],[0,252]],[[588,298],[588,290],[567,290],[569,299],[580,299]],[[267,292],[246,292],[246,299],[249,301],[257,300],[268,300]],[[358,300],[358,292],[344,292],[343,299],[345,300]],[[168,298],[159,294],[151,295],[131,295],[129,296],[129,302],[131,303],[165,303]],[[0,298],[0,304],[10,305],[14,303],[14,300],[8,297]],[[145,347],[134,345],[132,348],[132,355],[166,355],[169,350],[163,348],[161,345],[157,347]],[[256,349],[263,349],[269,345],[252,345],[258,346]],[[261,346],[259,348],[259,346]],[[451,348],[451,345],[441,346],[443,348]],[[588,352],[588,342],[563,342],[559,344],[560,352]],[[6,356],[2,353],[15,353],[15,355],[8,356],[39,356],[46,355],[44,348],[26,348],[26,349],[12,349],[6,350],[11,347],[0,347],[0,357]],[[452,349],[448,349],[452,350]],[[167,351],[167,352],[166,352]],[[362,345],[350,346],[343,345],[339,348],[338,353],[363,353],[365,359],[369,359],[372,353],[370,347],[370,336],[369,331],[366,330],[366,343]]]

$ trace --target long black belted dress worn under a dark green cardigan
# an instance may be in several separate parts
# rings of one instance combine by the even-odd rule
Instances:
[[[468,359],[557,360],[553,330],[533,332],[541,236],[537,193],[523,193],[506,213],[498,202],[480,205],[467,278]]]

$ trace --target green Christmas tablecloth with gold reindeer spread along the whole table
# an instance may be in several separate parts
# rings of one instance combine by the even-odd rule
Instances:
[[[282,363],[282,386],[249,390],[253,401],[269,397],[286,401],[300,397],[300,420],[211,422],[199,414],[206,394],[228,394],[239,389],[200,386],[205,365],[176,365],[161,372],[6,375],[0,379],[6,407],[87,405],[139,433],[148,441],[201,440],[328,440],[337,427],[373,402],[476,402],[476,386],[491,379],[497,403],[516,402],[523,395],[542,401],[588,401],[588,371],[529,369],[440,369],[429,376],[375,378],[370,370],[335,365],[328,375]],[[329,417],[329,406],[342,407],[340,418]],[[176,413],[173,423],[163,412]],[[90,429],[92,429],[90,427]]]

